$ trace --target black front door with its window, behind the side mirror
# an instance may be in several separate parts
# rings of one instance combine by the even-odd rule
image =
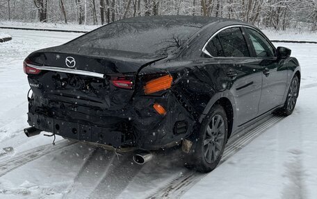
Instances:
[[[259,114],[263,114],[283,103],[286,91],[287,70],[275,56],[275,47],[254,28],[244,28],[245,35],[254,51],[255,62],[261,67],[262,92],[259,103]]]

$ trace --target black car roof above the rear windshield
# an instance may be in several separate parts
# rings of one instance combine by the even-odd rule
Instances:
[[[208,24],[215,22],[232,21],[242,22],[237,19],[225,19],[219,17],[204,17],[204,16],[184,16],[184,15],[161,15],[161,16],[145,16],[145,17],[132,17],[115,21],[114,23],[152,23],[152,24],[168,24],[180,26],[195,26],[202,28]]]

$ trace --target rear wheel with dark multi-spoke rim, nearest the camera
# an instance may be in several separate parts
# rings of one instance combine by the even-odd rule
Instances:
[[[225,150],[227,135],[226,112],[221,105],[214,105],[200,126],[195,152],[190,158],[190,167],[202,173],[213,171]]]

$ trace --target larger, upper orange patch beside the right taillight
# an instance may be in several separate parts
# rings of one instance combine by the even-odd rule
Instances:
[[[169,89],[172,86],[172,76],[167,75],[161,78],[150,80],[144,87],[145,94],[152,94],[161,90]]]

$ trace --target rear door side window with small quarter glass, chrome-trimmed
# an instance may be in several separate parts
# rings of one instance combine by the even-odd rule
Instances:
[[[247,42],[243,37],[241,28],[227,28],[213,37],[206,46],[206,50],[213,55],[213,57],[231,57],[243,58],[250,57]]]

